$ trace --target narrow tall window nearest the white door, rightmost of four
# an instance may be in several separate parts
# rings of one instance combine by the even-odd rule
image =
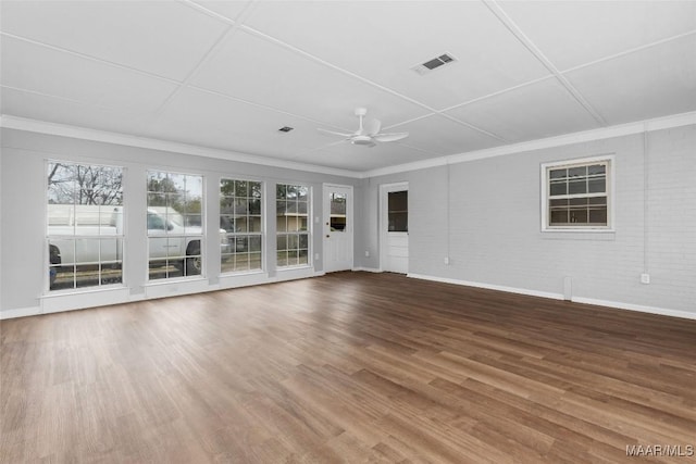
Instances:
[[[277,266],[309,265],[309,187],[277,184]]]

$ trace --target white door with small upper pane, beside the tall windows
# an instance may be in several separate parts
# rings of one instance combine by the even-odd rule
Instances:
[[[324,272],[352,269],[352,187],[324,184]]]

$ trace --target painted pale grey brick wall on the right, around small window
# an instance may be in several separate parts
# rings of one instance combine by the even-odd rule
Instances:
[[[378,244],[378,186],[406,180],[412,276],[551,298],[570,277],[575,301],[696,317],[695,149],[689,125],[648,133],[645,153],[636,134],[375,177],[363,247]],[[604,154],[616,156],[616,233],[543,233],[540,164]]]

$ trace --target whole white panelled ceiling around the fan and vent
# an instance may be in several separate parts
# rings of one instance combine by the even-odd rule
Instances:
[[[365,172],[696,111],[696,1],[0,8],[3,115],[283,162]],[[355,130],[356,106],[410,137],[316,130]]]

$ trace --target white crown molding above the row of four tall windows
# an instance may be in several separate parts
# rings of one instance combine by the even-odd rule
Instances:
[[[198,147],[188,143],[160,140],[148,137],[137,137],[127,134],[117,134],[107,130],[89,129],[65,124],[48,123],[45,121],[29,120],[26,117],[0,115],[0,127],[30,133],[47,134],[52,136],[70,137],[82,140],[100,141],[105,143],[123,145],[150,150],[170,151],[175,153],[191,154],[195,156],[215,158],[239,163],[258,164],[262,166],[282,167],[286,170],[307,171],[310,173],[328,174],[333,176],[362,178],[363,174],[357,171],[339,170],[335,167],[319,166],[315,164],[284,161],[236,151],[219,150],[214,148]]]

